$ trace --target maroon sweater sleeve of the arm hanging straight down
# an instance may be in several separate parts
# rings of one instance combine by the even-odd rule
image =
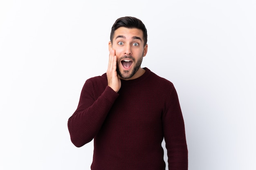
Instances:
[[[184,119],[174,86],[168,94],[162,119],[169,170],[188,170]]]

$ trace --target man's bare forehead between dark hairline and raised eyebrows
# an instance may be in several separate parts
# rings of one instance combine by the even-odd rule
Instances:
[[[143,32],[141,29],[137,28],[126,28],[126,27],[120,27],[115,31],[114,34],[114,40],[119,37],[124,36],[125,38],[132,38],[132,37],[139,37],[141,40],[143,40]]]

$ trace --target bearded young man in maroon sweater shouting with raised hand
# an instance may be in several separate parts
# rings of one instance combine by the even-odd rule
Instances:
[[[141,20],[123,17],[112,26],[108,70],[88,79],[68,120],[72,143],[94,139],[92,170],[188,169],[184,121],[175,88],[141,62],[148,50]]]

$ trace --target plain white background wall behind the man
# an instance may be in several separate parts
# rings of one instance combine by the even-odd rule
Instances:
[[[127,15],[148,29],[142,66],[175,85],[189,170],[255,170],[255,0],[0,0],[0,169],[90,169],[67,119]]]

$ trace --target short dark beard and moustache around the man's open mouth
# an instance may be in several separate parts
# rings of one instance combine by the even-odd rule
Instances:
[[[132,60],[133,62],[133,68],[132,70],[124,70],[123,73],[121,73],[120,68],[119,68],[119,64],[121,63],[121,60],[128,58],[130,60]],[[137,62],[135,62],[135,58],[133,58],[131,55],[125,55],[121,58],[119,58],[118,62],[117,62],[117,74],[122,78],[122,79],[130,79],[132,76],[135,75],[135,73],[139,70],[141,63],[143,60],[143,56],[141,56]]]

